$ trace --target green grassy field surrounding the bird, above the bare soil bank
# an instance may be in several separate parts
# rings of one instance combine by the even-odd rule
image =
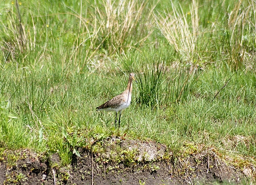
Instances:
[[[255,0],[2,0],[0,154],[29,148],[65,165],[118,135],[256,166],[255,12]],[[117,129],[96,106],[130,72]]]

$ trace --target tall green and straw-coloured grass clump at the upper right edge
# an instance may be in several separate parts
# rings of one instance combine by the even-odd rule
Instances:
[[[250,67],[250,62],[255,50],[255,13],[256,2],[238,1],[228,14],[227,36],[227,65],[231,70],[238,70],[241,67]]]

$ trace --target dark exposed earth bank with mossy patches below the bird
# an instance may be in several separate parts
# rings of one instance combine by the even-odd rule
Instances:
[[[97,142],[96,142],[97,143]],[[173,154],[152,141],[117,137],[101,141],[100,152],[78,148],[71,164],[61,166],[58,154],[7,151],[0,159],[0,184],[19,185],[207,185],[251,184],[252,168],[228,164],[214,149]],[[176,156],[176,157],[175,157]],[[177,157],[179,156],[179,157]]]

